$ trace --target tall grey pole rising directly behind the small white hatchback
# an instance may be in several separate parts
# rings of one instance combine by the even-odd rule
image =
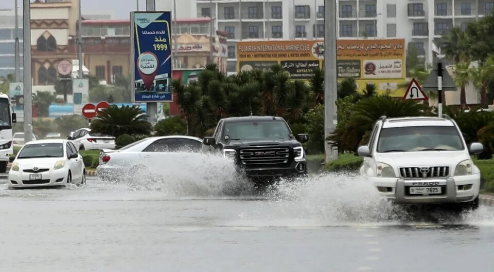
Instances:
[[[32,140],[31,3],[23,0],[24,142]]]

